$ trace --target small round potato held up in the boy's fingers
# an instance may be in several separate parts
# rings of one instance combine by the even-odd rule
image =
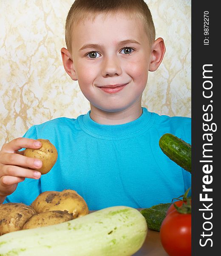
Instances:
[[[34,169],[41,174],[48,173],[57,161],[57,149],[49,140],[37,139],[42,143],[39,149],[26,148],[24,155],[42,160],[42,167]]]

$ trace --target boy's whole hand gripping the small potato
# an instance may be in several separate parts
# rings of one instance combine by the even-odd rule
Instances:
[[[42,166],[42,161],[25,157],[21,148],[37,149],[41,143],[37,140],[17,138],[3,145],[0,151],[0,203],[11,195],[17,184],[25,178],[39,179],[41,173],[31,170]]]

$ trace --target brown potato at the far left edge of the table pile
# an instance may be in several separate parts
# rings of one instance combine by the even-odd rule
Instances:
[[[21,230],[34,214],[36,214],[35,210],[26,204],[0,204],[0,235]]]

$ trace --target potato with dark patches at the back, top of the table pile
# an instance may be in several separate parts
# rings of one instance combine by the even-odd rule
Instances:
[[[37,213],[60,210],[73,214],[73,218],[88,214],[88,205],[84,198],[71,189],[62,192],[45,191],[42,192],[31,204]]]

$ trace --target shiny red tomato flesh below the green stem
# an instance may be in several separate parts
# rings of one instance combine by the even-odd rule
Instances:
[[[160,228],[160,239],[170,256],[191,256],[191,214],[168,214]]]

